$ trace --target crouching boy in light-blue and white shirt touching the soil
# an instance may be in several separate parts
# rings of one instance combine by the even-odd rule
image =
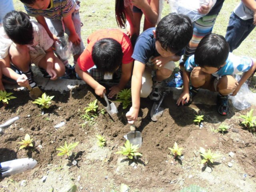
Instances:
[[[230,112],[228,95],[235,96],[255,69],[255,59],[234,56],[229,52],[228,43],[223,36],[209,34],[200,41],[195,54],[185,62],[184,90],[177,104],[191,104],[199,88],[208,89],[218,92],[218,112],[226,115]],[[240,72],[244,74],[237,82],[233,75]],[[190,88],[189,78],[192,84]]]

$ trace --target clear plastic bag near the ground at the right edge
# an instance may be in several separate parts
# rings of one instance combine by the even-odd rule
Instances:
[[[240,75],[236,75],[236,80],[240,80]],[[236,96],[229,96],[233,106],[238,110],[245,110],[251,105],[256,105],[256,93],[250,91],[246,82],[242,84]]]

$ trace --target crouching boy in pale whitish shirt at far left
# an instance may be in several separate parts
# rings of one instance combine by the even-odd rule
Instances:
[[[23,82],[22,79],[28,79],[30,86],[36,87],[30,69],[31,62],[39,67],[44,77],[56,80],[62,76],[65,68],[54,56],[52,44],[53,40],[44,27],[30,21],[26,13],[7,13],[0,28],[0,59],[4,81],[13,83],[15,80],[19,83]]]

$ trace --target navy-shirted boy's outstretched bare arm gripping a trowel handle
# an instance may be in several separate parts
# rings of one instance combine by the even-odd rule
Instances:
[[[142,87],[142,74],[145,64],[135,60],[132,73],[132,107],[126,113],[128,123],[133,124],[137,118],[140,109],[140,90]]]

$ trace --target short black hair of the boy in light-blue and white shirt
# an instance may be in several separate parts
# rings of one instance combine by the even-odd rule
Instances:
[[[222,35],[208,34],[198,44],[195,51],[195,62],[200,67],[220,68],[229,54],[229,45]]]

